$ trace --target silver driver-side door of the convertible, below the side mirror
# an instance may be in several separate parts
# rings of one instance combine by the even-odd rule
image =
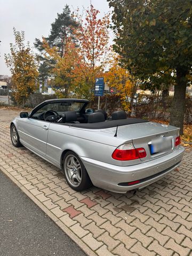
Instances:
[[[47,134],[50,122],[34,118],[20,118],[18,132],[21,143],[35,151],[37,154],[46,155]]]

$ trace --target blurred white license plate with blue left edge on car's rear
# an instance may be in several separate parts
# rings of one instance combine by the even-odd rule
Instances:
[[[172,150],[172,137],[161,137],[151,140],[149,147],[151,155],[170,151]]]

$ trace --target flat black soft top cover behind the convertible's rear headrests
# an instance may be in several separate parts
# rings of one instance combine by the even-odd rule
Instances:
[[[138,124],[138,123],[146,123],[147,120],[139,119],[139,118],[127,118],[127,119],[119,119],[119,120],[109,120],[105,122],[99,123],[85,123],[85,124],[72,124],[73,127],[84,128],[84,129],[107,129],[115,126],[122,126],[127,124]]]

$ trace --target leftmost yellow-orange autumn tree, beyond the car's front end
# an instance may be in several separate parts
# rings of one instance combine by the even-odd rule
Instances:
[[[25,45],[24,31],[13,28],[15,44],[10,44],[11,53],[5,54],[5,62],[12,74],[14,99],[24,106],[27,98],[36,90],[37,67],[30,45]]]

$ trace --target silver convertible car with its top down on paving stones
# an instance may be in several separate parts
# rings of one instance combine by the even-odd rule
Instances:
[[[11,123],[13,146],[25,146],[59,167],[71,188],[94,185],[117,193],[145,187],[183,157],[179,128],[115,111],[86,114],[88,100],[46,100]]]

